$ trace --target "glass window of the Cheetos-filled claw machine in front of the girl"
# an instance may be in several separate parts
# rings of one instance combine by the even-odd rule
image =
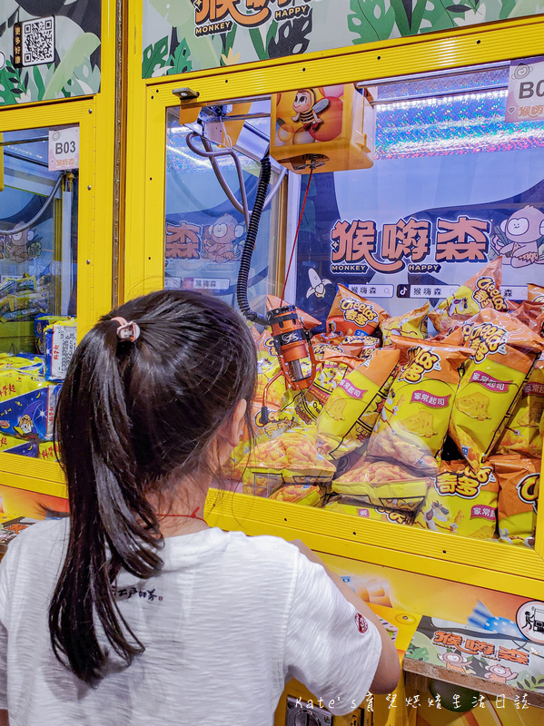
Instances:
[[[203,153],[237,152],[253,125],[265,138],[252,158],[270,138],[272,160],[288,170],[288,211],[294,200],[290,277],[269,299],[269,326],[253,328],[257,437],[251,453],[247,442],[235,451],[234,490],[534,547],[544,128],[530,106],[512,118],[507,104],[509,75],[526,70],[492,64],[299,89],[233,112],[203,109],[193,127],[169,124],[166,284],[235,298],[243,213]],[[236,139],[225,113],[245,119],[242,131],[228,122]],[[261,271],[265,280],[272,230],[259,228],[250,280]],[[262,306],[260,284],[249,307]]]

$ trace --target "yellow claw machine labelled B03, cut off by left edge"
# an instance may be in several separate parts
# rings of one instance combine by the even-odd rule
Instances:
[[[66,508],[55,399],[76,338],[111,307],[116,26],[100,0],[9,2],[0,15],[4,545]]]

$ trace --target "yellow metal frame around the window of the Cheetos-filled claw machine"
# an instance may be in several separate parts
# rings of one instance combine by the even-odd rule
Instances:
[[[541,54],[544,17],[434,33],[182,76],[142,79],[142,6],[129,5],[125,298],[163,288],[165,115],[187,86],[198,103]],[[544,502],[544,499],[542,499]],[[313,550],[544,599],[544,505],[534,551],[360,520],[247,495],[208,499],[210,524],[301,538]]]

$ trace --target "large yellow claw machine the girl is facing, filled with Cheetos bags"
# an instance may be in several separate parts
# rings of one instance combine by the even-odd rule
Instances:
[[[124,294],[218,295],[258,350],[208,521],[302,539],[403,662],[348,716],[290,682],[277,726],[541,719],[542,28],[515,2],[131,8]]]

